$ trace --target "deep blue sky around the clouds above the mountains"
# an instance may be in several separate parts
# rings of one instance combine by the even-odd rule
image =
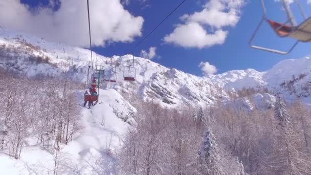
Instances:
[[[93,0],[90,0],[92,3]],[[34,1],[22,0],[21,3],[29,5],[33,13],[36,13],[38,7],[53,8],[57,11],[61,1],[56,1],[53,6],[49,6],[49,0]],[[128,54],[137,43],[146,36],[160,21],[178,5],[181,1],[167,0],[131,0],[128,4],[123,3],[123,7],[132,16],[142,16],[144,21],[142,24],[141,36],[133,37],[132,41],[109,42],[104,47],[96,47],[95,51],[101,55],[113,56]],[[176,68],[187,73],[202,76],[202,70],[198,67],[200,62],[209,62],[215,65],[217,73],[223,73],[229,70],[237,69],[255,69],[264,71],[272,68],[274,64],[282,59],[300,58],[311,54],[310,43],[299,43],[295,50],[288,55],[278,55],[269,52],[251,49],[248,41],[262,17],[262,11],[259,1],[248,1],[244,6],[239,8],[240,14],[238,22],[233,26],[221,27],[222,30],[228,31],[225,41],[221,44],[198,48],[177,46],[173,43],[165,42],[164,37],[174,31],[177,24],[184,24],[181,20],[184,14],[193,14],[200,12],[207,4],[207,0],[188,0],[175,13],[173,13],[150,37],[145,40],[134,54],[139,56],[142,50],[148,51],[150,47],[156,47],[156,56],[152,61],[158,62],[165,67]],[[274,1],[265,1],[268,16],[277,21],[285,21],[285,12],[281,9],[280,3]],[[304,9],[310,6],[306,1],[301,1]],[[86,4],[86,3],[85,3]],[[91,6],[92,7],[92,6]],[[294,7],[294,6],[293,6]],[[85,6],[86,8],[86,6]],[[92,10],[92,9],[91,9]],[[228,12],[229,9],[224,10]],[[295,15],[298,17],[297,9],[294,9]],[[86,14],[85,14],[86,15]],[[310,15],[310,14],[308,14]],[[92,16],[91,16],[92,18]],[[298,17],[299,21],[301,18]],[[104,24],[104,21],[103,21]],[[87,26],[85,26],[87,28]],[[99,30],[96,26],[91,26],[93,30]],[[129,26],[130,28],[130,26]],[[208,32],[210,26],[205,25],[204,28]],[[193,32],[193,31],[192,31]],[[191,31],[189,31],[191,33]],[[38,34],[39,35],[39,34]],[[258,33],[255,43],[276,49],[289,48],[294,40],[287,38],[278,38],[271,28],[264,24],[262,30]]]

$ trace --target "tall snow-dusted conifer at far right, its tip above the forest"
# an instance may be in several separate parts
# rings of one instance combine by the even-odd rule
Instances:
[[[301,152],[301,140],[294,132],[291,116],[281,97],[275,102],[277,126],[273,132],[274,145],[269,168],[273,174],[311,174],[311,163]]]

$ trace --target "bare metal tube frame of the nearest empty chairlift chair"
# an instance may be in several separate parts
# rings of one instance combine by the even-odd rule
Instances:
[[[287,24],[288,24],[288,23],[291,23],[291,26],[290,26],[290,27],[292,28],[292,31],[291,31],[290,33],[286,34],[286,35],[280,35],[279,33],[277,33],[279,37],[288,37],[288,36],[291,37],[291,34],[293,34],[294,32],[296,32],[297,30],[298,30],[299,32],[304,32],[304,33],[305,33],[305,31],[300,31],[300,26],[302,26],[305,22],[307,22],[307,21],[310,20],[311,18],[306,18],[306,15],[305,15],[305,13],[304,13],[304,11],[303,11],[303,9],[302,9],[302,7],[301,7],[301,5],[300,5],[300,3],[299,3],[298,1],[299,1],[299,0],[295,0],[295,3],[298,4],[300,13],[301,13],[301,15],[303,16],[304,21],[303,21],[300,25],[297,26],[296,20],[295,20],[295,18],[294,18],[294,16],[293,16],[293,13],[292,13],[291,9],[290,9],[290,6],[286,3],[285,0],[282,0],[284,9],[285,9],[286,14],[287,14],[287,20],[286,20],[286,22],[283,23],[283,24],[278,24],[279,27],[277,27],[277,28],[274,29],[274,30],[275,30],[275,32],[277,33],[277,31],[279,31],[281,28],[283,28],[283,27],[288,27]],[[267,21],[267,22],[271,25],[271,20],[269,20],[268,17],[266,16],[266,8],[265,8],[265,5],[264,5],[264,1],[263,1],[263,0],[260,0],[260,2],[261,2],[261,7],[262,7],[263,16],[262,16],[262,18],[261,18],[261,20],[260,20],[260,22],[259,22],[257,28],[255,29],[255,31],[254,31],[254,33],[253,33],[251,39],[249,40],[249,45],[250,45],[250,47],[251,47],[251,48],[254,48],[254,49],[259,49],[259,50],[268,51],[268,52],[273,52],[273,53],[277,53],[277,54],[283,54],[283,55],[290,53],[290,52],[297,46],[298,42],[299,42],[299,41],[302,41],[302,40],[297,39],[296,42],[294,43],[294,45],[293,45],[288,51],[280,51],[280,50],[270,49],[270,48],[261,47],[261,46],[256,46],[256,45],[253,45],[253,44],[252,44],[252,42],[253,42],[253,40],[254,40],[254,37],[256,36],[258,30],[260,29],[260,27],[261,27],[263,21]],[[310,36],[311,36],[311,33],[309,33],[309,32],[306,32],[306,33],[310,34]],[[311,40],[311,38],[310,38],[310,40]],[[307,41],[310,41],[310,40],[307,40]],[[307,41],[303,41],[303,42],[307,42]]]

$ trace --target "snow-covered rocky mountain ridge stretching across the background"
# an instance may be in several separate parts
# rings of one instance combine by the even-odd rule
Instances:
[[[266,93],[257,95],[257,101],[274,99],[272,95],[276,92],[281,92],[287,99],[301,97],[306,100],[311,94],[309,57],[283,60],[265,72],[235,70],[207,77],[197,77],[135,57],[135,82],[123,80],[123,71],[132,64],[132,55],[108,58],[94,53],[93,65],[95,62],[103,65],[106,72],[112,69],[110,62],[118,65],[117,83],[105,82],[103,86],[108,85],[119,93],[130,93],[130,89],[135,89],[142,99],[152,99],[163,106],[206,106],[214,104],[217,99],[229,102],[236,100],[236,94],[243,88],[253,88],[252,94]],[[87,49],[47,42],[43,38],[0,28],[0,66],[3,68],[28,76],[70,76],[85,82],[90,64],[91,55]]]

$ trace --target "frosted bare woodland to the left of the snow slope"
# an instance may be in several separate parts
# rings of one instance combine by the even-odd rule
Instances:
[[[69,79],[27,78],[0,70],[0,151],[20,159],[28,137],[55,158],[58,173],[60,144],[68,144],[79,129],[77,84]],[[26,142],[27,140],[27,142]]]

